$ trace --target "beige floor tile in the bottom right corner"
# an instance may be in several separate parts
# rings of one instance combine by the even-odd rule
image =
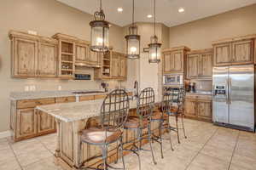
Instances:
[[[236,154],[232,157],[232,164],[239,165],[240,167],[244,167],[250,170],[256,169],[256,160],[252,157],[241,156],[241,154]]]

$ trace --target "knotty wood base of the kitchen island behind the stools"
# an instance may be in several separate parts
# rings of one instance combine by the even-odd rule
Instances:
[[[100,118],[90,117],[82,121],[75,122],[61,122],[56,123],[58,129],[58,146],[55,153],[55,163],[65,169],[79,169],[79,162],[84,162],[84,166],[96,167],[102,162],[102,149],[100,145],[80,144],[80,134],[84,129],[94,127],[99,124]],[[159,124],[157,122],[152,123],[152,132],[158,135]],[[148,135],[148,130],[143,130],[143,135]],[[137,133],[133,130],[124,130],[123,142],[133,141],[137,138]],[[143,144],[148,141],[143,140]],[[108,163],[116,160],[116,150],[119,142],[108,145]],[[125,144],[124,148],[131,147],[131,144]],[[79,150],[80,153],[79,153]],[[124,152],[124,154],[131,154],[131,152]],[[120,154],[119,154],[120,156]]]

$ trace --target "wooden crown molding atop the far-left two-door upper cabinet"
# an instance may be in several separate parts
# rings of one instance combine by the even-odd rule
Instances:
[[[9,31],[9,39],[12,40],[13,38],[26,38],[29,40],[35,40],[38,42],[50,42],[50,43],[55,43],[57,44],[58,41],[55,40],[54,38],[51,37],[43,37],[43,36],[38,36],[38,35],[32,35],[23,31],[14,31],[11,30]]]

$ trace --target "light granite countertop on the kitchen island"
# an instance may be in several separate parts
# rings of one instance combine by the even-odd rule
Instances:
[[[36,109],[44,111],[63,122],[76,122],[93,116],[100,116],[103,99],[55,105],[40,105]],[[130,100],[130,109],[137,108],[137,100]]]

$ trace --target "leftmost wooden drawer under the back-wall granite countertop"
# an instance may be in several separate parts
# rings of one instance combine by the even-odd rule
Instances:
[[[34,108],[37,105],[50,105],[54,104],[55,99],[22,99],[17,102],[18,109]]]

